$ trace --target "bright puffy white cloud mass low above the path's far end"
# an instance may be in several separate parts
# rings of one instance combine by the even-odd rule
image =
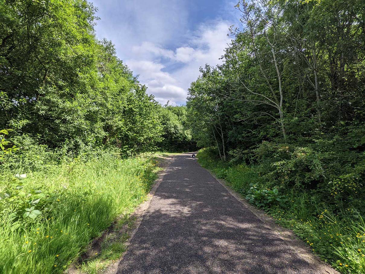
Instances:
[[[155,95],[156,100],[164,104],[168,100],[184,104],[187,89],[190,83],[197,79],[199,67],[206,63],[216,65],[220,63],[219,57],[224,54],[224,49],[230,43],[227,37],[227,22],[217,21],[201,25],[193,37],[187,41],[189,46],[178,47],[175,50],[164,49],[151,43],[143,42],[134,46],[137,57],[148,60],[126,60],[134,73],[139,74],[141,83],[148,87],[147,92]],[[173,72],[166,72],[166,66],[161,59],[168,58],[169,64],[183,64]]]

